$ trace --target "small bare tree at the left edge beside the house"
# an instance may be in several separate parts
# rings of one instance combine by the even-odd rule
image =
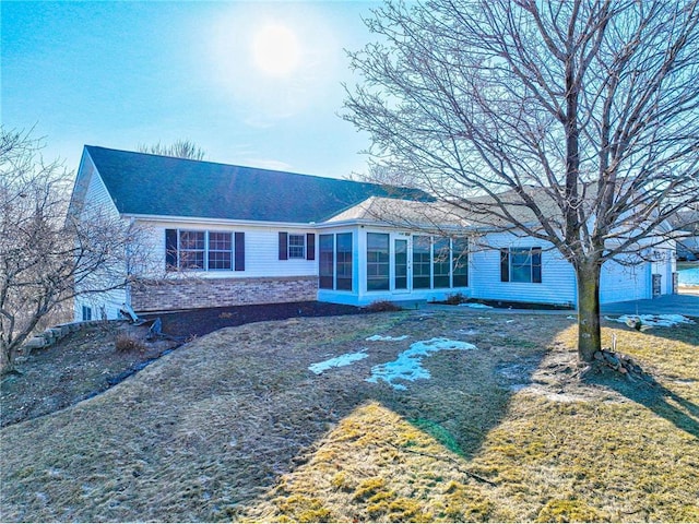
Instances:
[[[70,175],[40,141],[0,130],[0,374],[43,319],[78,295],[126,285],[138,230],[103,210],[67,217]]]

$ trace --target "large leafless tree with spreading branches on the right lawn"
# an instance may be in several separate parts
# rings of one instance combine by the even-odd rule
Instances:
[[[601,348],[600,272],[699,201],[698,0],[389,1],[351,53],[344,118],[479,226],[550,242]],[[508,225],[507,227],[505,225]]]

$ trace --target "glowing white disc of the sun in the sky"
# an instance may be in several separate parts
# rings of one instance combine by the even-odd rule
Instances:
[[[288,27],[269,24],[260,28],[252,39],[254,64],[272,76],[286,76],[300,61],[298,38]]]

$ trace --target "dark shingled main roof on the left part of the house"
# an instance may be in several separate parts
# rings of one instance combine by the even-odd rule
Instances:
[[[86,145],[119,213],[307,224],[418,190]]]

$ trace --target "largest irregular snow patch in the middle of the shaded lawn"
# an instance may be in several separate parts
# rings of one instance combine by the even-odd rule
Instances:
[[[392,362],[374,366],[371,368],[371,377],[366,380],[367,382],[374,383],[377,383],[379,380],[383,380],[395,390],[406,390],[407,388],[405,385],[396,383],[396,381],[429,379],[429,371],[422,366],[423,358],[447,349],[476,349],[476,346],[469,344],[467,342],[452,341],[443,337],[419,341],[412,344],[410,349],[401,353]]]

